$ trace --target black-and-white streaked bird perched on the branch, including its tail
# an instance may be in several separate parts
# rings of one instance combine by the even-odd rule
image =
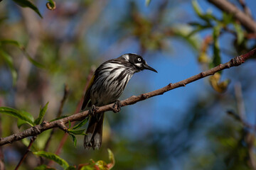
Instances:
[[[119,96],[124,91],[129,79],[144,69],[156,72],[156,69],[149,66],[142,56],[128,53],[100,64],[95,70],[92,79],[85,91],[82,102],[82,111],[96,106],[105,106],[110,103],[117,103]],[[102,145],[102,128],[104,112],[90,114],[90,120],[85,132],[85,149],[100,149]]]

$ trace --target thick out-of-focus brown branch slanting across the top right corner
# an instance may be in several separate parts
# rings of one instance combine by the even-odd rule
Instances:
[[[208,0],[208,2],[215,5],[217,8],[220,8],[221,11],[233,14],[235,19],[237,19],[242,24],[242,26],[244,26],[247,30],[250,30],[250,32],[256,33],[255,21],[250,18],[250,16],[247,16],[247,14],[243,13],[235,5],[231,4],[229,1]]]

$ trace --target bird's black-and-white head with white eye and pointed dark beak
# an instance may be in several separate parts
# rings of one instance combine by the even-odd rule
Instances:
[[[129,64],[132,64],[134,69],[137,69],[137,72],[140,72],[144,69],[149,69],[153,72],[157,72],[156,69],[150,67],[140,55],[129,53],[123,55],[123,57],[125,60],[127,60],[127,62],[129,62]]]

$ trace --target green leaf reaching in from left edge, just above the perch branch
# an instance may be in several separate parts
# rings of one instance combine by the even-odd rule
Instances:
[[[21,119],[21,120],[25,121],[26,123],[28,123],[31,126],[35,125],[33,123],[33,121],[34,121],[33,116],[28,112],[17,111],[14,108],[0,107],[0,113],[4,113],[6,115],[11,115],[14,118]]]

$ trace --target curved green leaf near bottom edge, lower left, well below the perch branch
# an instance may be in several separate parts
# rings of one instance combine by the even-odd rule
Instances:
[[[68,168],[69,164],[66,162],[64,159],[61,159],[58,155],[50,153],[50,152],[45,152],[45,151],[38,151],[38,152],[33,152],[33,154],[36,154],[38,157],[45,157],[46,159],[50,159],[53,162],[56,162],[60,166],[63,166],[64,169]]]

